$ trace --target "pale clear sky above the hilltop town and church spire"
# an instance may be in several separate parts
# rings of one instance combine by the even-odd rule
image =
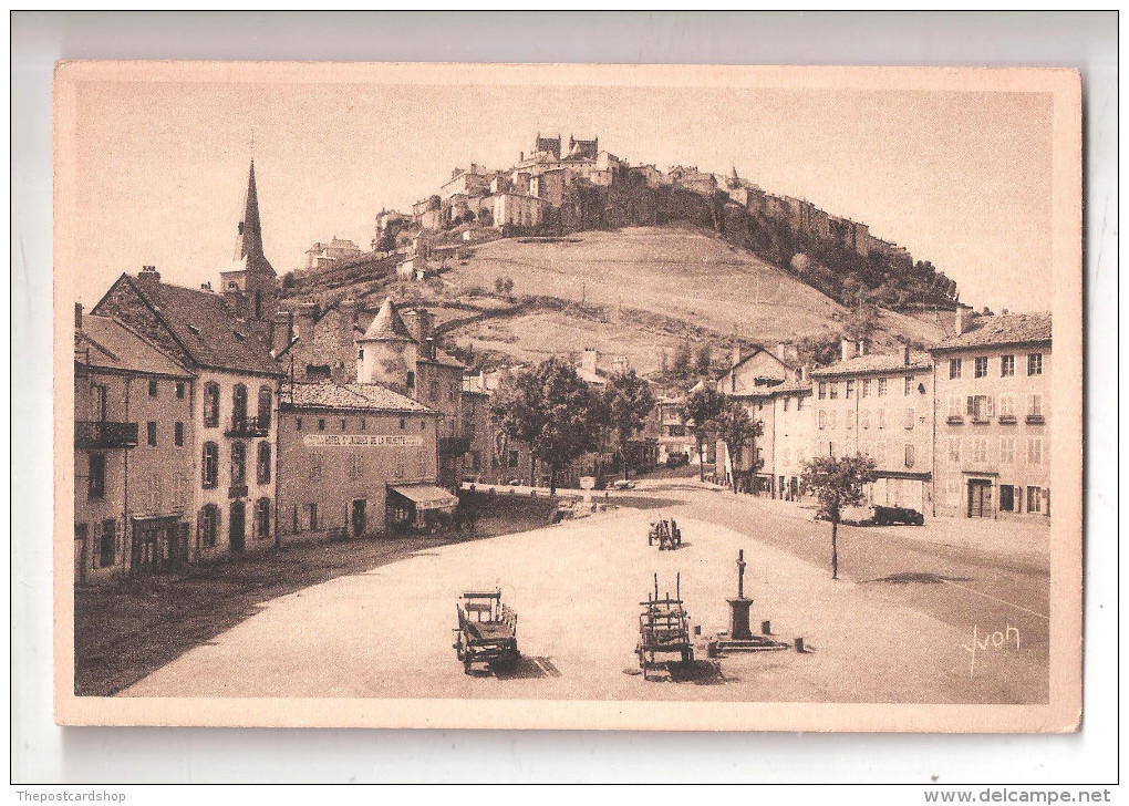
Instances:
[[[76,298],[156,265],[228,268],[252,155],[281,275],[314,242],[368,248],[455,167],[513,165],[534,137],[599,137],[631,164],[737,173],[869,225],[997,313],[1050,308],[1049,94],[553,85],[111,81],[77,94]]]

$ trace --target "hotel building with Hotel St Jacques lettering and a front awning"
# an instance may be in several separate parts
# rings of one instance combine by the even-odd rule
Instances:
[[[457,499],[437,483],[436,411],[377,384],[292,384],[279,406],[279,540],[431,525]]]

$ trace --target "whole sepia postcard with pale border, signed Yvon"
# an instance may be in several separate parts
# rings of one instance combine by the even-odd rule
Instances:
[[[1077,72],[54,89],[60,724],[1078,729]]]

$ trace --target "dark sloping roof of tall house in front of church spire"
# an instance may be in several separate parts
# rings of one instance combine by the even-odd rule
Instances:
[[[224,298],[164,282],[126,277],[157,312],[177,341],[202,367],[282,375],[270,345],[231,315]]]

